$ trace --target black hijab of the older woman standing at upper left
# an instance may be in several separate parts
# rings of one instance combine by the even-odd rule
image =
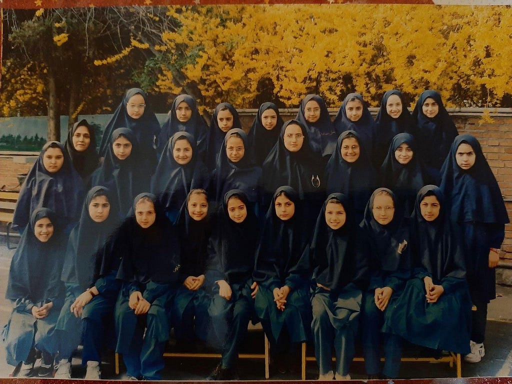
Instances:
[[[84,126],[89,131],[89,136],[91,137],[91,142],[87,149],[82,152],[78,152],[73,145],[73,135],[75,134],[77,128],[79,126]],[[99,164],[99,156],[96,151],[96,133],[94,128],[87,122],[86,119],[82,119],[73,124],[73,128],[68,133],[68,139],[64,144],[66,151],[73,163],[73,167],[76,172],[80,175],[84,184],[87,184],[89,181],[89,177],[94,172],[94,170],[98,167]]]

